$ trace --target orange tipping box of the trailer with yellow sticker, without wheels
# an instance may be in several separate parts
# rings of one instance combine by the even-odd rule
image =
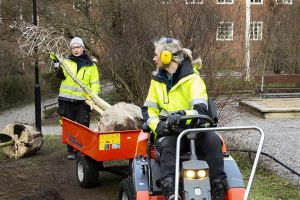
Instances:
[[[62,142],[95,161],[134,158],[141,130],[94,132],[72,120],[62,120]]]

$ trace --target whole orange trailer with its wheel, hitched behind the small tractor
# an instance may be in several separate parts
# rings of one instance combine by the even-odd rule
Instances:
[[[76,151],[76,173],[81,187],[94,187],[99,171],[127,176],[127,167],[104,167],[104,161],[131,160],[142,130],[95,132],[67,118],[62,119],[62,143]]]

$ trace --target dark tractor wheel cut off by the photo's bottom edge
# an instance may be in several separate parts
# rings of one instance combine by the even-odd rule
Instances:
[[[132,177],[128,177],[121,182],[119,200],[135,200],[135,191]]]

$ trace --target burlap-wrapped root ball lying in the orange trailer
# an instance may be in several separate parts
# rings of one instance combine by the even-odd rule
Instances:
[[[98,123],[99,132],[142,129],[142,111],[134,104],[120,102],[107,108]]]

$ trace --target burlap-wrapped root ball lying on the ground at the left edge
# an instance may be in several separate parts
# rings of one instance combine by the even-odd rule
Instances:
[[[10,158],[21,158],[30,155],[43,145],[43,136],[32,126],[22,123],[8,124],[0,132],[0,143],[13,140],[12,145],[3,147],[3,153]]]

